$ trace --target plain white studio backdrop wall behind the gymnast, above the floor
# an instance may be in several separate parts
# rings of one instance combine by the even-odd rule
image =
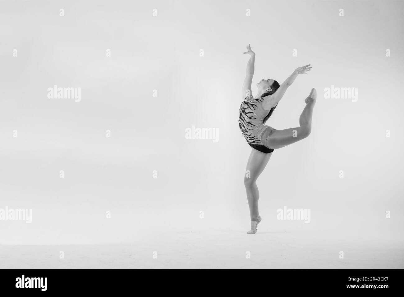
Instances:
[[[282,83],[313,66],[268,125],[297,126],[304,99],[318,91],[311,135],[275,150],[258,179],[260,228],[402,247],[403,8],[1,2],[0,208],[32,209],[32,223],[0,221],[0,244],[175,240],[192,230],[201,240],[211,230],[244,236],[250,147],[238,108],[251,44],[254,95],[261,78]],[[80,87],[80,102],[49,99],[54,85]],[[357,98],[325,98],[326,88],[353,88]],[[217,141],[186,139],[193,126],[215,129]],[[310,209],[310,223],[278,220],[284,206]]]

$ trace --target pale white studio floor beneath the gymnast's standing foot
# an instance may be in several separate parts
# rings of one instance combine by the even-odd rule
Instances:
[[[265,229],[265,228],[263,228]],[[132,244],[1,245],[2,269],[403,269],[403,245],[318,231],[147,230]],[[60,251],[64,259],[59,258]],[[344,258],[339,258],[339,252]],[[157,252],[157,258],[153,255]],[[250,252],[250,259],[246,258]]]

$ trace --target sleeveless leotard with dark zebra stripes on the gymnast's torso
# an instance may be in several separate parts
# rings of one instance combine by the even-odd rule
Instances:
[[[248,144],[259,150],[260,152],[269,154],[274,150],[265,146],[261,141],[261,136],[265,131],[268,135],[274,128],[265,126],[265,122],[274,111],[275,105],[270,110],[264,110],[262,107],[263,97],[255,99],[254,97],[247,96],[240,105],[240,115],[238,117],[238,126],[243,133],[244,138]],[[270,128],[271,130],[267,130]],[[264,140],[265,141],[265,140]]]

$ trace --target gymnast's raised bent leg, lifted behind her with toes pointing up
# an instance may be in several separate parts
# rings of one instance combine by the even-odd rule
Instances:
[[[299,127],[284,130],[274,130],[269,133],[266,145],[271,149],[279,149],[286,145],[295,143],[310,135],[311,133],[311,117],[313,115],[314,104],[316,103],[316,89],[311,89],[309,97],[305,99],[306,106],[299,118]]]

